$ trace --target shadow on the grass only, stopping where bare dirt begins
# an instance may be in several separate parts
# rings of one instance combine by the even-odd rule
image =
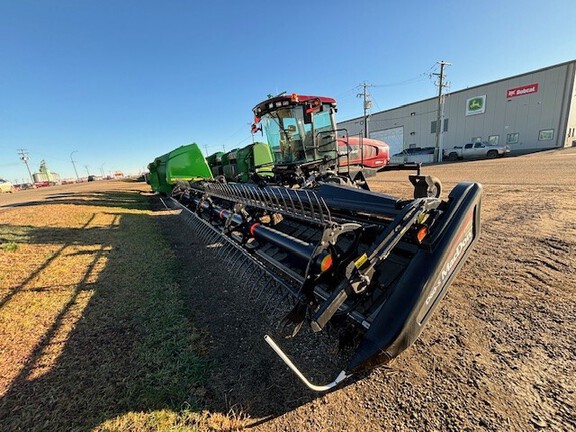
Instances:
[[[118,196],[104,193],[101,201],[122,207]],[[139,208],[147,205],[145,198],[134,202]],[[114,229],[90,229],[90,219],[83,229],[27,230],[27,243],[63,244],[4,296],[2,305],[16,301],[28,282],[58,265],[71,245],[91,246],[92,257],[0,399],[2,430],[90,430],[127,412],[179,411],[197,404],[205,362],[198,355],[199,338],[182,289],[174,280],[178,263],[158,233],[155,218],[144,212],[120,211],[116,216]],[[106,266],[90,283],[103,258]],[[91,297],[70,325],[86,290]],[[42,295],[42,290],[37,293]],[[72,330],[63,351],[37,376],[65,322]]]

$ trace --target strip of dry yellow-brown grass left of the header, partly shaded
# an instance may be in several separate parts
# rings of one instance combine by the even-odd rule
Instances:
[[[147,186],[0,211],[2,430],[234,430]]]

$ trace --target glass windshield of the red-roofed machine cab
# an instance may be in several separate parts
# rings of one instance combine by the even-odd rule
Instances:
[[[302,106],[279,108],[261,119],[262,129],[277,164],[306,163],[324,159],[336,160],[331,107],[304,119]]]

